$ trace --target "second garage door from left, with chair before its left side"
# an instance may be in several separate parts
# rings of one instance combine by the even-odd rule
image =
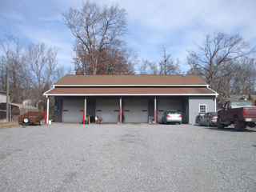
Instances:
[[[102,122],[118,122],[119,106],[118,99],[97,99],[95,114]]]

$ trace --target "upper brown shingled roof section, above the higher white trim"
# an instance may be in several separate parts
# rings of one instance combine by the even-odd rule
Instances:
[[[58,85],[208,85],[198,75],[74,75],[67,74]]]

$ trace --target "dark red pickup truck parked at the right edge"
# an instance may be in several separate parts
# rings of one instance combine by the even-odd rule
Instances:
[[[234,130],[242,130],[246,126],[254,127],[255,122],[256,106],[250,100],[229,101],[218,110],[218,129],[234,124]]]

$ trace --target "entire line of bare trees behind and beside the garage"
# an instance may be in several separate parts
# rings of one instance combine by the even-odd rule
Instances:
[[[181,62],[174,58],[170,46],[157,48],[158,60],[138,61],[138,54],[129,48],[127,13],[117,3],[99,5],[87,0],[82,7],[62,12],[63,22],[75,37],[72,65],[75,74],[181,74]],[[0,40],[0,90],[6,90],[6,63],[10,57],[10,92],[13,102],[26,99],[46,101],[42,94],[66,74],[58,65],[58,48],[41,43],[28,43],[6,35]],[[187,50],[186,74],[198,74],[210,89],[221,97],[232,94],[254,94],[256,69],[255,46],[241,35],[207,34],[204,42],[194,43]]]

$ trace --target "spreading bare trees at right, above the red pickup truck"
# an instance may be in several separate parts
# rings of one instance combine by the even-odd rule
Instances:
[[[255,92],[255,46],[241,35],[214,33],[206,35],[202,45],[188,50],[189,74],[198,74],[222,97]]]

